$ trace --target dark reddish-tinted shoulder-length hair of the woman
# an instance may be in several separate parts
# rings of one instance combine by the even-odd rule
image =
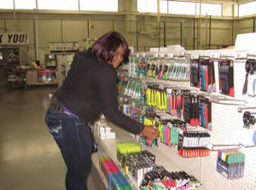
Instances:
[[[129,49],[125,37],[119,32],[108,32],[98,38],[91,46],[92,52],[99,60],[112,61],[115,51],[122,46],[124,49],[123,61],[128,60]]]

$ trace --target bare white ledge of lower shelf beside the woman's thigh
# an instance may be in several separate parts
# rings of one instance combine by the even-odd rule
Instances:
[[[125,179],[130,183],[131,187],[133,187],[134,189],[139,189],[137,187],[137,182],[134,181],[131,176],[125,173],[125,170],[122,168],[119,161],[117,160],[117,144],[120,141],[131,141],[133,139],[129,135],[129,132],[126,132],[125,130],[115,127],[114,131],[116,132],[116,139],[101,140],[98,135],[95,134],[95,140],[98,145],[102,146],[108,156],[113,160],[114,164],[118,166],[119,170],[125,176]]]

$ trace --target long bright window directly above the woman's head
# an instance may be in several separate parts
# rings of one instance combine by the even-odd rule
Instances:
[[[80,10],[119,11],[119,1],[80,0]]]

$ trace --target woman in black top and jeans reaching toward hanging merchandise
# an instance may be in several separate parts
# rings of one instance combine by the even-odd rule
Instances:
[[[143,126],[119,112],[115,68],[128,58],[127,52],[127,43],[119,32],[106,33],[87,52],[74,56],[66,80],[52,98],[46,124],[67,164],[67,190],[86,189],[92,148],[88,123],[102,113],[131,133],[151,140],[159,135],[153,127]]]

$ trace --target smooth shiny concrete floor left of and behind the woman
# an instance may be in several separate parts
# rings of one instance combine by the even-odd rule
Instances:
[[[0,87],[0,190],[64,190],[66,166],[44,124],[55,87]],[[94,167],[88,189],[105,189]]]

